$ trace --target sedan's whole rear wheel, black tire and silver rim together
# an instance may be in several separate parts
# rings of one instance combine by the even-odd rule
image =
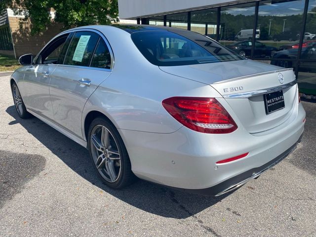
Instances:
[[[95,118],[88,132],[88,149],[101,181],[121,189],[135,180],[131,163],[118,130],[105,118]]]

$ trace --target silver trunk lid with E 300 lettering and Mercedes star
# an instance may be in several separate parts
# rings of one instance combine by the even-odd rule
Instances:
[[[251,60],[192,65],[183,67],[183,70],[175,68],[160,67],[170,74],[211,85],[223,96],[249,133],[282,124],[297,104],[296,79],[291,69]],[[268,114],[265,94],[272,96],[276,91],[282,91],[285,107]]]

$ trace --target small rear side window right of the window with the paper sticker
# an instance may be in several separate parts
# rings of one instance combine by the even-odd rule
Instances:
[[[104,40],[100,39],[98,46],[93,54],[91,67],[111,68],[111,54]]]

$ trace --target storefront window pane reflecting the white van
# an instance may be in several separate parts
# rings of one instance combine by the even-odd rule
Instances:
[[[221,8],[220,43],[243,57],[251,54],[254,12],[253,2]]]

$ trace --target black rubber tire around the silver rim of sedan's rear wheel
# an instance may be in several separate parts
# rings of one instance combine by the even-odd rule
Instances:
[[[93,158],[93,156],[94,156],[93,153],[95,152],[95,150],[93,150],[94,145],[93,144],[91,145],[91,139],[92,139],[91,135],[92,135],[92,131],[98,126],[104,126],[110,132],[110,135],[112,135],[112,137],[115,140],[115,146],[117,146],[117,149],[119,152],[119,157],[120,157],[119,169],[120,169],[120,171],[117,175],[117,180],[115,182],[109,182],[101,175],[102,172],[103,172],[103,175],[105,174],[104,171],[106,170],[106,168],[98,169],[97,164],[95,163],[95,160]],[[109,186],[112,189],[122,189],[122,188],[132,184],[136,180],[136,176],[134,175],[134,173],[131,170],[130,159],[128,157],[128,153],[127,153],[126,147],[123,143],[123,140],[120,137],[118,130],[115,128],[115,126],[113,126],[113,124],[110,121],[108,121],[105,117],[97,117],[91,122],[90,127],[89,127],[88,137],[87,137],[87,148],[88,148],[89,153],[90,153],[92,165],[95,168],[95,171],[97,172],[100,180],[105,185]],[[109,150],[110,150],[110,148],[109,148]],[[100,152],[100,151],[97,151],[97,152]],[[100,154],[102,154],[102,152],[100,152]]]

